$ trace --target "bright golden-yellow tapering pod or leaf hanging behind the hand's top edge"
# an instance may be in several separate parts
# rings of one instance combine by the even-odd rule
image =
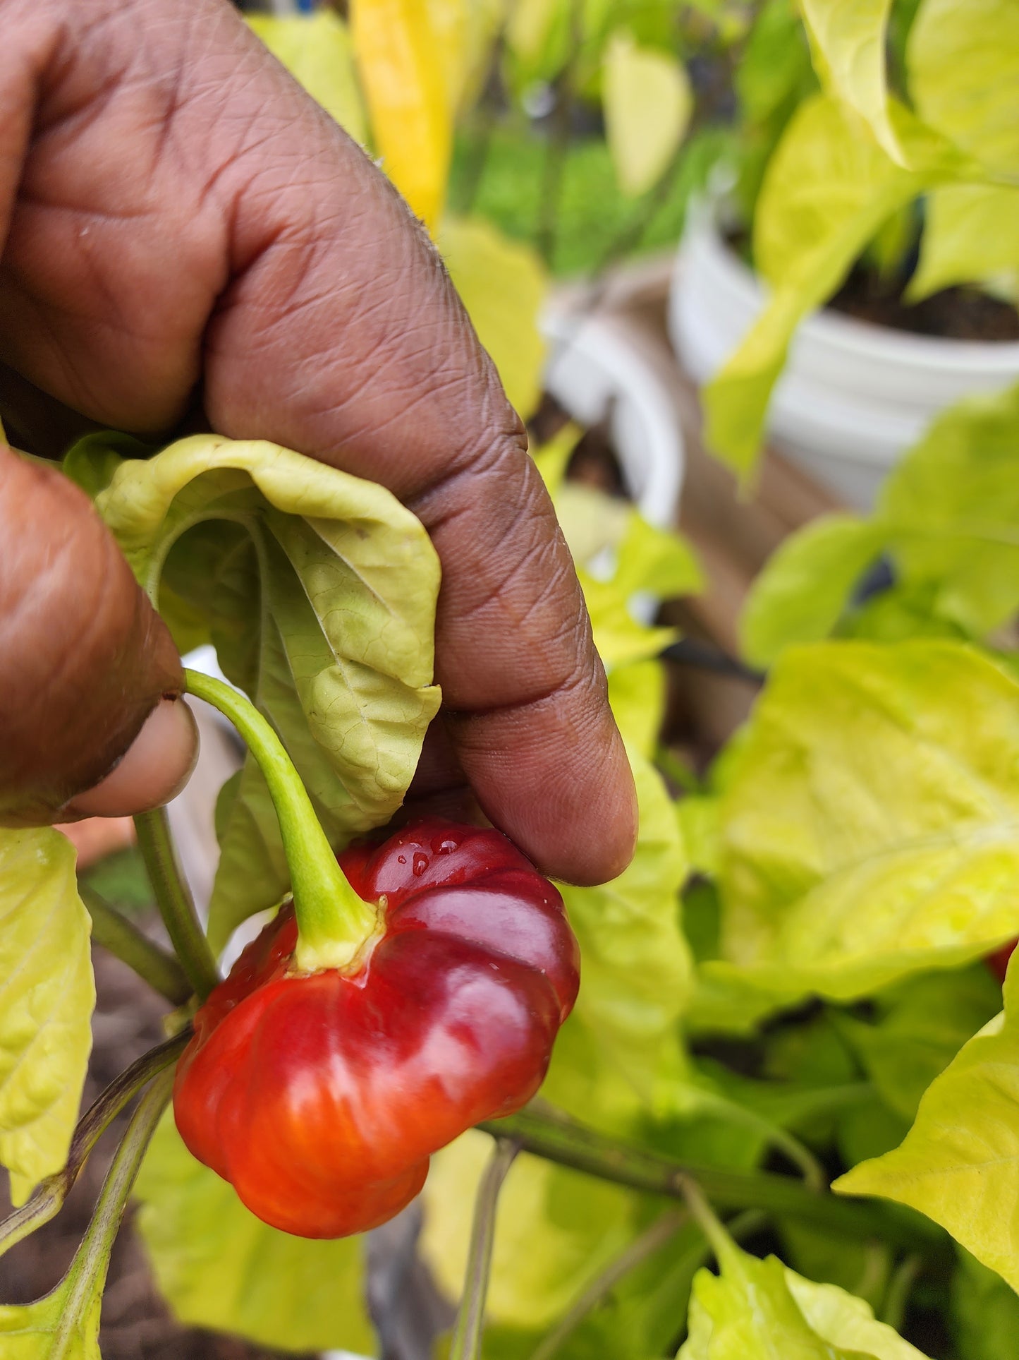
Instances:
[[[450,175],[452,114],[428,5],[352,0],[351,33],[382,169],[435,233]]]

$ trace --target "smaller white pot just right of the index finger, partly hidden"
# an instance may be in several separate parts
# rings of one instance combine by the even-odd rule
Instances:
[[[553,303],[545,389],[579,424],[609,416],[629,496],[658,528],[671,528],[683,484],[683,438],[668,388],[633,344],[626,324],[580,303]]]

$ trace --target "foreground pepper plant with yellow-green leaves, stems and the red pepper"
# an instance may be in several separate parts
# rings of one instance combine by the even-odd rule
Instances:
[[[531,301],[489,324],[533,328]],[[504,352],[537,390],[539,344]],[[0,1253],[132,1107],[64,1280],[0,1307],[1,1355],[94,1360],[132,1193],[178,1318],[372,1353],[355,1229],[428,1156],[420,1251],[459,1302],[436,1355],[1015,1353],[1019,964],[1003,996],[985,959],[1019,936],[1016,393],[937,422],[872,517],[779,551],[745,619],[759,694],[707,771],[664,741],[677,635],[643,622],[700,568],[567,477],[576,435],[535,461],[641,813],[632,865],[583,889],[492,831],[365,842],[439,704],[436,558],[389,492],[212,435],[68,453],[178,646],[215,645],[231,687],[192,688],[249,755],[205,923],[164,816],[139,817],[168,949],[79,887],[60,832],[0,832]],[[90,928],[168,1036],[80,1114]]]

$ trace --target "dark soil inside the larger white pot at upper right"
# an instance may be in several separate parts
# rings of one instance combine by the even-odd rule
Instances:
[[[977,288],[944,288],[906,303],[872,273],[853,269],[829,307],[894,330],[944,340],[1019,340],[1019,310]]]

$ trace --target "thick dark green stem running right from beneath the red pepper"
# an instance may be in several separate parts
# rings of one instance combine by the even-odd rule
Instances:
[[[810,1190],[792,1176],[673,1161],[607,1138],[548,1107],[529,1106],[507,1119],[493,1119],[478,1127],[493,1137],[515,1140],[524,1152],[649,1194],[685,1200],[686,1183],[693,1179],[713,1204],[727,1209],[764,1209],[849,1238],[897,1242],[925,1255],[944,1250],[942,1231],[923,1219],[905,1223],[870,1205]]]

